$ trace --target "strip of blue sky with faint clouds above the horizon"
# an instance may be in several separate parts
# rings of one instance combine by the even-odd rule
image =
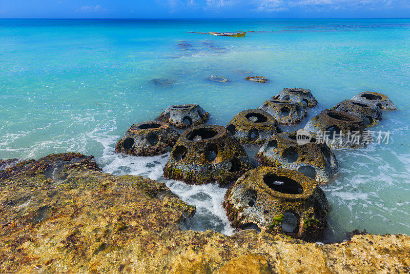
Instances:
[[[410,17],[410,0],[0,0],[0,18]]]

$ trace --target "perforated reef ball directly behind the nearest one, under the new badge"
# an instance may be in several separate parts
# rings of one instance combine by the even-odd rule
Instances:
[[[282,132],[265,142],[256,157],[263,165],[292,169],[303,173],[320,184],[329,183],[338,170],[336,156],[325,143],[316,144],[316,138],[298,145],[297,132]]]

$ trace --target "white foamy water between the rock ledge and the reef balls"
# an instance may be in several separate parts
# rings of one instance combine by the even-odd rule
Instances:
[[[165,182],[182,201],[196,207],[194,217],[187,224],[190,229],[213,229],[227,235],[235,231],[222,207],[226,188],[220,188],[217,184],[189,185],[181,181],[167,180],[162,177],[162,172],[168,162],[169,152],[152,157],[117,154],[112,144],[115,144],[118,138],[119,136],[93,136],[94,140],[104,146],[103,156],[97,159],[104,172],[115,175],[141,175]]]

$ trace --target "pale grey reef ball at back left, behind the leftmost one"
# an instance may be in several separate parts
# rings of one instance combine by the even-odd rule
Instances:
[[[176,128],[186,128],[207,122],[209,113],[199,105],[172,105],[158,117],[159,120],[170,123]]]

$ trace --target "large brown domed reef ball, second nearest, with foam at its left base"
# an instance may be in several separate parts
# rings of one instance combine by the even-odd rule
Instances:
[[[245,149],[226,128],[199,125],[181,134],[163,174],[190,184],[225,184],[234,182],[250,168]]]

